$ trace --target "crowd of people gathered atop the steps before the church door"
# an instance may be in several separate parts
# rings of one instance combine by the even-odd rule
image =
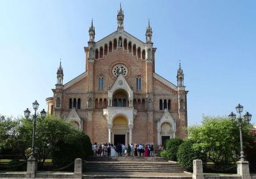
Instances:
[[[159,145],[154,147],[153,144],[116,144],[114,146],[110,143],[103,143],[97,145],[94,143],[92,146],[94,156],[127,156],[127,157],[154,157],[155,153],[163,150],[163,146]]]

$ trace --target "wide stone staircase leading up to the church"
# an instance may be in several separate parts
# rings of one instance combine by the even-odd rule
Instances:
[[[191,175],[163,157],[89,157],[83,178],[175,178]],[[160,177],[162,176],[162,177]],[[179,178],[180,179],[180,178]]]

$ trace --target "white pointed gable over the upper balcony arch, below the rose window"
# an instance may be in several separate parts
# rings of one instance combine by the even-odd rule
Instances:
[[[133,98],[133,91],[130,88],[129,84],[125,80],[124,75],[119,74],[118,77],[116,78],[116,81],[113,83],[113,86],[108,89],[108,98],[112,99],[113,93],[116,91],[116,89],[124,89],[128,93],[129,99]]]

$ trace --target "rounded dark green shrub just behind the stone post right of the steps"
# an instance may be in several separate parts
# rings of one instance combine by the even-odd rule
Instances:
[[[193,167],[193,160],[201,159],[203,162],[206,161],[206,154],[203,153],[198,148],[195,148],[193,145],[195,141],[191,139],[185,140],[179,146],[179,150],[177,152],[178,163],[187,168]]]

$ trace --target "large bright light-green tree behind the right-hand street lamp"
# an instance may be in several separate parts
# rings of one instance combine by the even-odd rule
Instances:
[[[250,146],[251,125],[243,123],[244,147]],[[204,116],[202,125],[188,128],[189,138],[195,141],[195,148],[200,148],[214,164],[218,166],[233,164],[240,153],[239,128],[237,121],[225,117]]]

